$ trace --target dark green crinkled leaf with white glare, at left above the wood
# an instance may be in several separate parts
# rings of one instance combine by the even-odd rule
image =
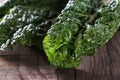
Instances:
[[[45,20],[48,15],[49,11],[44,9],[20,6],[11,9],[0,22],[1,49],[12,48],[12,45],[16,43],[28,46],[37,44],[34,40],[42,40],[42,36],[51,25]]]

